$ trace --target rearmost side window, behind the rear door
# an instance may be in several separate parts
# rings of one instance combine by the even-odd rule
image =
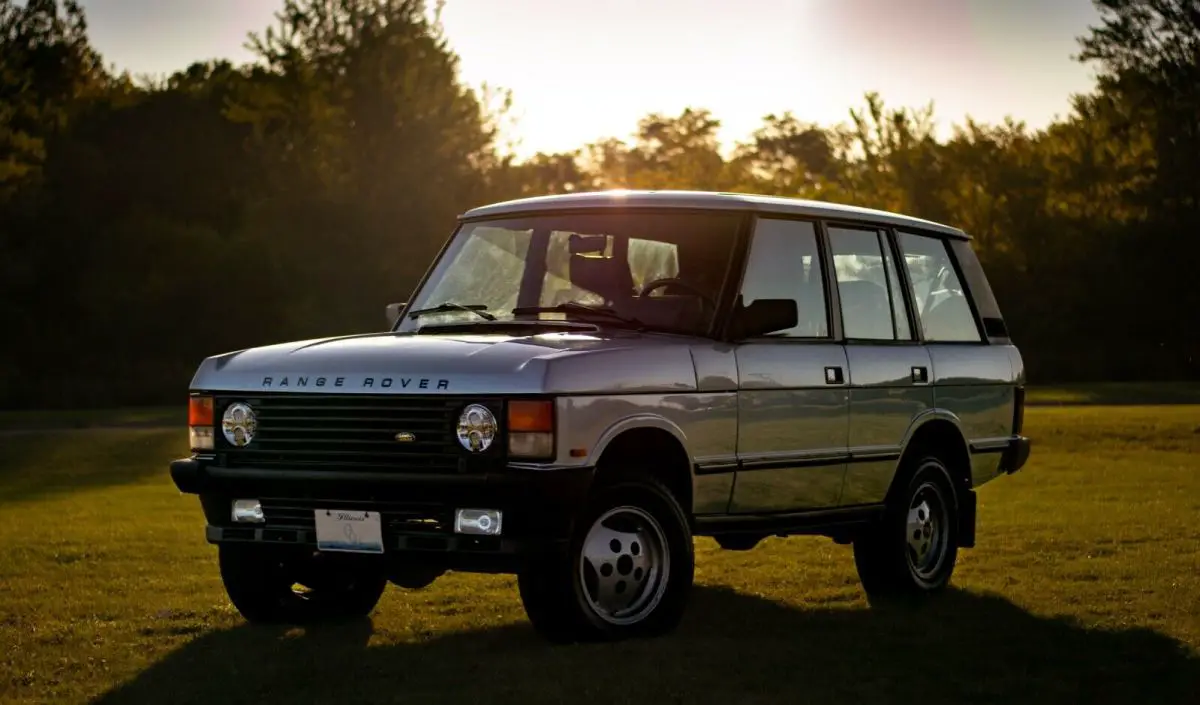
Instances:
[[[898,233],[912,283],[912,299],[925,339],[930,342],[982,342],[966,291],[954,271],[946,242],[937,237]]]

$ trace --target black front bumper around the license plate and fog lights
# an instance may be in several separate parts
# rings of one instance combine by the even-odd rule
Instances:
[[[204,458],[170,463],[175,487],[199,495],[211,543],[316,549],[317,508],[370,510],[384,520],[385,553],[481,572],[509,572],[565,542],[592,476],[592,468],[446,475],[223,468]],[[234,523],[234,499],[258,499],[266,520]],[[503,511],[502,536],[455,534],[454,511],[466,507]]]

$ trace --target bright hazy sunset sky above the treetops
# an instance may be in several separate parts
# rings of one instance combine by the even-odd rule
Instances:
[[[248,34],[282,2],[82,5],[107,64],[168,74],[252,60]],[[932,103],[942,134],[967,115],[1042,127],[1094,85],[1074,55],[1098,16],[1091,0],[446,0],[442,20],[463,80],[511,91],[506,139],[523,157],[625,139],[686,107],[712,110],[728,147],[770,113],[848,121],[868,91]]]

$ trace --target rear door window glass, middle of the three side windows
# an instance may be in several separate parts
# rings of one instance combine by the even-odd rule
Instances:
[[[829,228],[829,249],[838,275],[841,325],[846,338],[912,338],[887,241],[878,230]]]

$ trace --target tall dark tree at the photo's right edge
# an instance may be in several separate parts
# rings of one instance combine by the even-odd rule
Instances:
[[[1145,282],[1147,299],[1171,302],[1138,317],[1154,336],[1156,367],[1194,374],[1200,331],[1177,325],[1175,312],[1200,306],[1192,283],[1192,263],[1200,258],[1200,1],[1096,0],[1096,6],[1102,22],[1080,38],[1079,59],[1098,66],[1106,114],[1118,118],[1115,131],[1133,138],[1152,169],[1145,179],[1123,181],[1122,200],[1142,213],[1136,225],[1142,236],[1139,257],[1122,275]],[[1152,151],[1140,149],[1146,140]]]

